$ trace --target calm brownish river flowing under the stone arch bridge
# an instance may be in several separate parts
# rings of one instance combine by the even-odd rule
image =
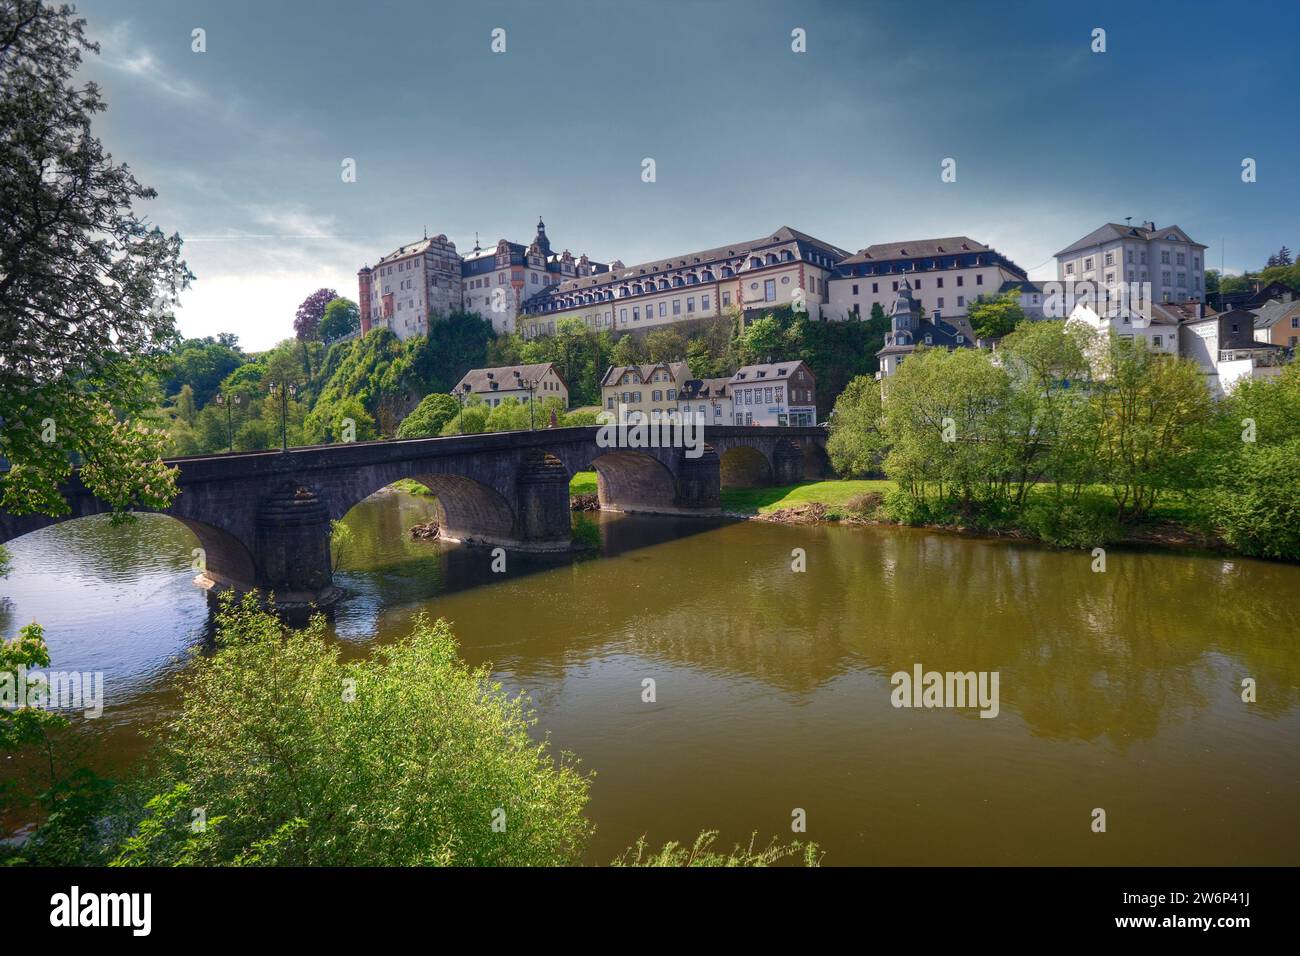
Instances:
[[[642,834],[789,839],[801,810],[828,865],[1300,864],[1297,566],[1113,549],[1095,572],[916,529],[599,515],[598,555],[495,574],[412,541],[432,512],[398,492],[350,512],[333,633],[365,654],[420,611],[450,619],[595,771],[590,862]],[[160,516],[9,544],[3,632],[36,619],[53,669],[105,674],[78,727],[107,773],[144,754],[203,641],[195,545]],[[918,663],[996,671],[997,717],[893,706]]]

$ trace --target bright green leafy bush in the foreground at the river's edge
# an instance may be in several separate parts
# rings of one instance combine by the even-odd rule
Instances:
[[[588,779],[445,622],[344,662],[320,619],[286,630],[250,597],[181,683],[120,865],[537,866],[586,844]]]

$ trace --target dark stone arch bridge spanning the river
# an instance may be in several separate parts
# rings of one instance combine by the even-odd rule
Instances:
[[[438,499],[447,538],[519,550],[569,546],[568,483],[594,470],[601,507],[710,515],[728,485],[792,484],[824,472],[820,428],[706,427],[703,453],[602,447],[597,427],[447,438],[320,445],[169,459],[179,494],[162,514],[204,550],[208,585],[274,592],[281,604],[329,602],[329,525],[399,479]],[[49,524],[109,510],[74,475],[70,511],[57,518],[0,511],[0,544]]]

